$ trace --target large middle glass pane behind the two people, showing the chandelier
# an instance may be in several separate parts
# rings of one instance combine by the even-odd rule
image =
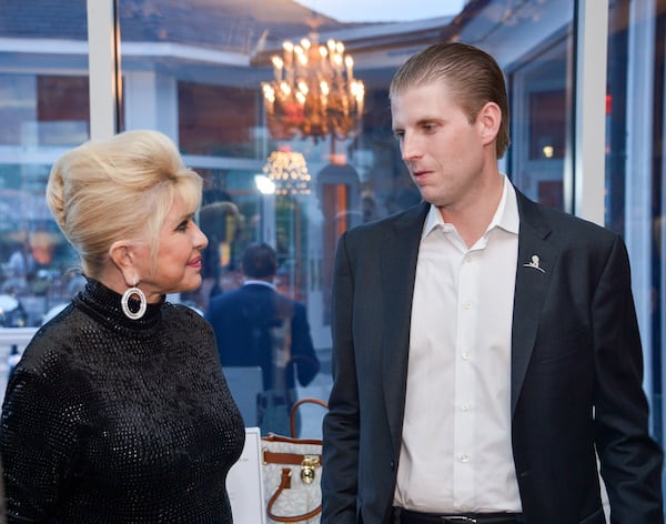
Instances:
[[[273,244],[280,258],[278,289],[306,304],[324,364],[316,387],[301,393],[326,397],[337,239],[349,228],[420,201],[392,135],[387,88],[393,73],[443,36],[491,50],[506,67],[514,127],[529,129],[514,137],[505,170],[524,191],[563,208],[563,171],[571,155],[573,1],[467,2],[456,23],[457,11],[420,21],[416,40],[408,24],[375,28],[367,37],[363,26],[296,2],[233,6],[189,8],[185,2],[174,10],[163,0],[119,1],[128,50],[124,121],[128,129],[153,128],[178,138],[185,161],[205,180],[204,284],[181,300],[205,311],[211,296],[241,284],[240,255],[249,242]],[[344,50],[329,39],[341,40]],[[284,41],[291,44],[283,47]],[[307,91],[290,75],[303,79]],[[359,99],[337,90],[346,81],[351,92],[352,78],[364,84],[357,125]],[[272,81],[270,98],[265,84]],[[303,102],[296,91],[304,93]],[[273,193],[260,191],[255,179],[271,173],[276,153],[303,157],[302,191],[281,192],[284,181]]]

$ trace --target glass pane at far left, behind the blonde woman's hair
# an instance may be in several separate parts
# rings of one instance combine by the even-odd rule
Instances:
[[[85,2],[44,12],[10,1],[2,11],[0,326],[38,326],[80,284],[44,188],[52,162],[89,138]]]

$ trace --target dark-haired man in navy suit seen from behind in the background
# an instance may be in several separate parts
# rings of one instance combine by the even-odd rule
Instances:
[[[275,291],[278,255],[269,244],[248,245],[241,271],[243,285],[214,296],[205,318],[215,332],[222,366],[262,369],[266,392],[259,405],[262,432],[286,434],[296,401],[295,377],[304,386],[320,370],[305,305]],[[269,411],[279,415],[268,420]]]

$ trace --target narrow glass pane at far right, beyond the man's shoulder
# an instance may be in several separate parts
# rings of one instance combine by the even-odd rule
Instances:
[[[646,8],[649,6],[649,8]],[[664,443],[666,2],[610,2],[606,97],[606,225],[632,261],[653,432]]]

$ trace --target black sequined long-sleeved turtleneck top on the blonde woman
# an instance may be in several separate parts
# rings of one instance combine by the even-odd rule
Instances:
[[[89,280],[8,385],[8,521],[231,523],[225,480],[243,443],[209,324],[168,302],[131,321]]]

